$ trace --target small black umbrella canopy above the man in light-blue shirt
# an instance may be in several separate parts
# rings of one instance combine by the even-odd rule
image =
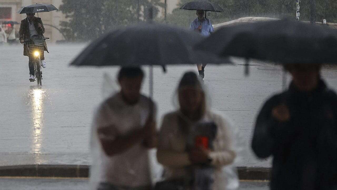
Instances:
[[[216,3],[211,3],[205,0],[196,0],[185,3],[180,9],[185,10],[205,10],[210,12],[223,12],[223,9]]]

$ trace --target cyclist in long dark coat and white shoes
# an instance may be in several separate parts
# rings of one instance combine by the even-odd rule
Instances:
[[[35,17],[35,13],[28,13],[27,18],[23,19],[21,21],[19,35],[20,35],[20,43],[25,43],[27,41],[32,40],[32,37],[35,35],[41,36],[44,38],[43,33],[45,32],[45,29],[43,27],[43,23],[41,18]],[[44,51],[48,51],[47,44],[44,41]],[[23,55],[29,57],[29,80],[31,82],[35,81],[34,78],[34,64],[33,64],[33,57],[29,56],[29,51],[26,45],[24,45]],[[45,61],[44,61],[44,54],[41,54],[41,66],[43,68],[46,67]]]

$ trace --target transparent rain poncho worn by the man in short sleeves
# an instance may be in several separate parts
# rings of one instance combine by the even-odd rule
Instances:
[[[112,95],[119,92],[119,87],[117,85],[117,81],[111,79],[111,77],[108,74],[104,74],[103,77],[103,87],[102,87],[102,100],[105,100],[108,97],[111,97]],[[98,135],[96,132],[96,125],[95,123],[92,124],[91,129],[91,158],[92,158],[92,164],[89,171],[89,184],[91,190],[96,190],[97,187],[101,182],[104,182],[104,179],[102,179],[102,172],[109,168],[102,168],[103,162],[105,162],[106,158],[102,157],[102,154],[104,154]],[[150,178],[151,183],[154,185],[156,181],[158,181],[162,174],[162,167],[158,164],[156,160],[156,149],[148,149],[148,164],[146,164],[146,167],[148,167],[150,171]],[[133,167],[135,167],[135,163],[132,162],[130,164],[127,163],[128,161],[123,161],[123,165],[125,165],[125,170],[128,173],[127,176],[121,176],[123,179],[121,181],[128,181],[128,184],[134,184],[137,183],[133,180],[139,179],[139,176],[135,176],[137,174],[134,174]],[[144,162],[143,162],[144,163]],[[141,163],[139,163],[141,164]],[[140,167],[139,164],[137,164],[136,167]]]

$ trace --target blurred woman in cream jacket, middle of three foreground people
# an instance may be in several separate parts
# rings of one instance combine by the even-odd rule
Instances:
[[[222,167],[231,164],[236,153],[232,147],[231,123],[207,110],[205,91],[193,72],[187,72],[178,85],[179,110],[166,114],[160,128],[157,160],[164,166],[165,180],[186,178],[190,166],[208,165],[214,168],[212,189],[224,189]],[[187,148],[187,134],[198,123],[214,122],[216,136],[213,149]]]

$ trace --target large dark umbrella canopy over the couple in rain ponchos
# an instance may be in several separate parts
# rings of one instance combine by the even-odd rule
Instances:
[[[214,54],[192,51],[203,37],[174,26],[142,23],[109,32],[93,41],[71,65],[141,66],[196,63],[228,63]]]

